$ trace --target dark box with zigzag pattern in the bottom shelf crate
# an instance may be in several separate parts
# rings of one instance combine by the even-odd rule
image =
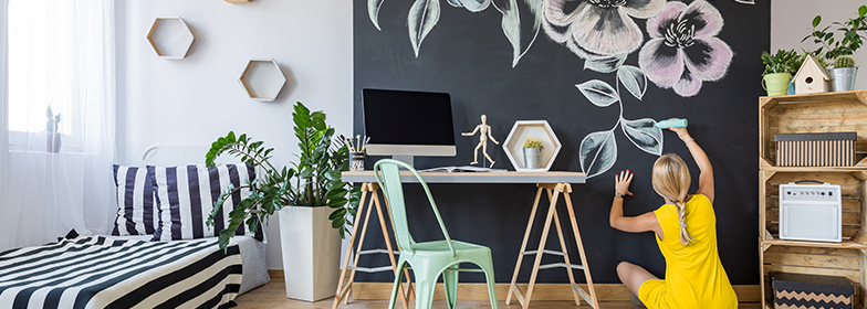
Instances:
[[[774,309],[852,309],[855,286],[846,277],[772,273]]]

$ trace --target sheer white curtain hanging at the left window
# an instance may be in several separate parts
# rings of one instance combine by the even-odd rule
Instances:
[[[0,0],[9,1],[9,0]],[[113,0],[11,0],[8,246],[70,228],[105,234],[114,219]]]

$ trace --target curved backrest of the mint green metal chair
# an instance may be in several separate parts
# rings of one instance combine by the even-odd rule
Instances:
[[[391,209],[391,221],[395,225],[395,238],[397,238],[397,245],[401,251],[412,252],[412,245],[416,243],[415,239],[412,239],[412,235],[409,234],[409,225],[407,224],[404,187],[400,182],[399,168],[401,167],[412,172],[412,174],[415,174],[418,179],[418,182],[425,189],[425,193],[427,194],[428,201],[430,202],[430,207],[433,210],[433,214],[437,217],[440,230],[442,230],[442,235],[446,237],[452,256],[455,256],[455,246],[451,244],[451,237],[449,237],[449,232],[446,231],[446,225],[442,224],[442,217],[439,215],[437,203],[433,202],[433,196],[430,194],[428,184],[424,179],[421,179],[421,175],[418,174],[418,171],[412,169],[412,167],[409,164],[397,160],[383,159],[374,164],[374,174],[376,175],[376,181],[379,183],[383,192],[385,192],[386,199],[388,199],[388,206]]]

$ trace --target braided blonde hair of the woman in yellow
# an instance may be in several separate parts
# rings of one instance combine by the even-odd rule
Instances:
[[[654,191],[662,195],[678,207],[678,219],[680,220],[680,243],[689,245],[692,237],[687,233],[687,191],[692,181],[689,175],[689,168],[683,159],[678,154],[668,153],[656,160],[654,163]]]

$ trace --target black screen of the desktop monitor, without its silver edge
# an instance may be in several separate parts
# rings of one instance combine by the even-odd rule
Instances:
[[[455,145],[449,94],[364,89],[363,95],[370,143]]]

